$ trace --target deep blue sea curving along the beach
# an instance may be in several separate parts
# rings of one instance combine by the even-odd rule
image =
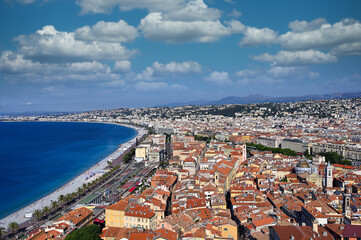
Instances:
[[[0,219],[66,184],[136,134],[113,124],[0,122]]]

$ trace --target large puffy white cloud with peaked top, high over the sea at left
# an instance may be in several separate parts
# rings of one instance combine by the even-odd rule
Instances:
[[[137,51],[127,50],[120,43],[84,42],[73,32],[60,32],[54,26],[44,26],[35,34],[20,35],[19,52],[40,62],[128,59]]]

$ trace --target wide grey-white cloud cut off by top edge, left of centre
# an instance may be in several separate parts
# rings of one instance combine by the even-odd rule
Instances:
[[[110,13],[118,6],[122,11],[128,11],[136,8],[148,9],[149,11],[171,11],[184,7],[186,0],[76,0],[81,7],[81,13]]]

